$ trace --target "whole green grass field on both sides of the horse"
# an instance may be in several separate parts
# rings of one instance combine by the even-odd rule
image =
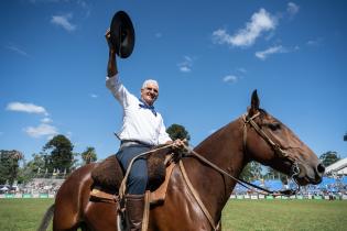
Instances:
[[[0,231],[36,230],[53,199],[0,199]],[[230,200],[225,231],[345,231],[347,200]]]

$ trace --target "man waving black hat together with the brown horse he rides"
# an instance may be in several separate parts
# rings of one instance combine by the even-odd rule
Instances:
[[[127,18],[124,13],[117,15]],[[154,110],[153,103],[159,95],[155,81],[143,84],[140,99],[121,84],[116,53],[119,57],[128,57],[133,47],[134,36],[131,30],[124,31],[122,26],[116,26],[113,30],[112,25],[113,23],[111,32],[106,33],[109,44],[107,86],[123,108],[123,124],[119,132],[121,145],[117,158],[126,169],[132,156],[145,153],[153,145],[163,143],[171,143],[167,146],[185,145],[182,141],[173,142],[169,138],[161,114]],[[115,37],[112,32],[118,32],[116,33],[118,40],[112,40],[112,35]],[[165,202],[152,207],[150,215],[147,213],[147,217],[151,217],[148,223],[150,231],[221,230],[223,208],[229,200],[236,183],[240,182],[238,177],[243,167],[251,161],[270,166],[292,177],[302,186],[319,184],[325,170],[324,165],[307,145],[280,120],[260,108],[257,91],[253,91],[249,110],[245,114],[210,134],[187,153],[189,154],[172,168],[172,174],[167,178]],[[84,165],[65,179],[54,204],[42,219],[40,231],[47,229],[52,218],[55,231],[77,229],[120,231],[118,229],[120,216],[117,215],[120,201],[113,204],[95,201],[90,197],[90,189],[97,183],[93,178],[93,173],[101,165],[102,163]],[[126,195],[122,197],[126,199],[124,206],[128,210],[126,213],[129,217],[126,227],[130,230],[141,229],[143,194],[147,186],[145,168],[145,160],[137,160],[130,176],[128,175],[128,189],[124,193],[119,190]],[[180,218],[180,222],[173,222],[174,218]]]

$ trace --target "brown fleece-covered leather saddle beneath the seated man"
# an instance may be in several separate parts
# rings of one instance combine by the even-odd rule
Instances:
[[[151,205],[159,205],[165,199],[169,179],[175,166],[174,155],[174,153],[171,153],[171,148],[158,150],[148,155],[148,193]],[[124,170],[115,154],[98,163],[91,172],[94,184],[90,199],[117,202]]]

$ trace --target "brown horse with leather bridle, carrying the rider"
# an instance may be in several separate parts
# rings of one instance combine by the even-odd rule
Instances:
[[[319,184],[325,170],[310,147],[278,119],[259,108],[257,91],[252,94],[247,114],[208,136],[194,152],[235,177],[250,161],[286,175],[293,175],[293,166],[296,166],[295,180],[300,185]],[[149,230],[221,230],[217,224],[236,180],[194,155],[184,157],[182,164],[200,201],[176,165],[164,204],[150,210]],[[40,230],[46,229],[52,217],[54,230],[117,230],[116,205],[89,200],[90,172],[96,165],[83,166],[65,180]]]

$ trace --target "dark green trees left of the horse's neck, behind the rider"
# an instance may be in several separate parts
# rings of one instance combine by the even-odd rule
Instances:
[[[172,140],[186,139],[191,136],[186,129],[180,124],[167,128]],[[80,157],[82,163],[78,163]],[[37,177],[66,177],[80,165],[86,165],[98,160],[95,147],[87,146],[82,153],[74,152],[74,145],[63,134],[52,138],[40,153],[32,154],[32,160],[26,162],[24,155],[15,150],[0,150],[0,185],[12,185],[28,183]],[[20,162],[22,161],[22,165]]]

